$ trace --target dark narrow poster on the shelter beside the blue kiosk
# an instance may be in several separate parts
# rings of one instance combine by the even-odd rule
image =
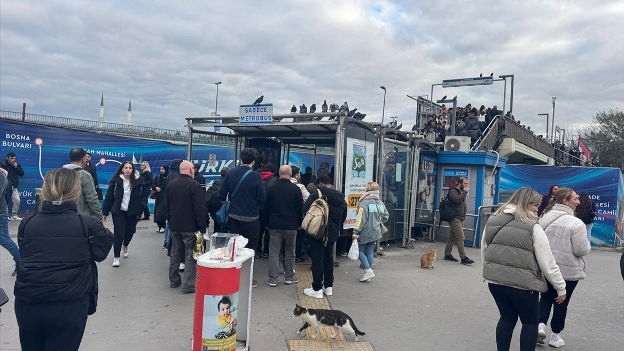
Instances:
[[[433,225],[436,197],[437,156],[420,155],[416,198],[417,224]]]

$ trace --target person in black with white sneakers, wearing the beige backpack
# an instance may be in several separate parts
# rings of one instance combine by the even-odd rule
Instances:
[[[329,207],[329,223],[327,226],[327,244],[323,240],[308,237],[310,257],[312,259],[312,287],[303,290],[304,294],[323,299],[323,294],[331,296],[334,286],[334,244],[343,232],[344,220],[347,218],[347,202],[344,194],[331,188],[331,180],[327,175],[321,175],[316,180],[318,190],[326,197]],[[318,199],[318,191],[314,191],[303,205],[303,213],[310,209],[314,200]]]

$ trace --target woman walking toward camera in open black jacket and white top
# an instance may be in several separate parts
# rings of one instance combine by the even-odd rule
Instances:
[[[149,189],[143,183],[134,164],[124,161],[109,182],[104,203],[102,204],[102,222],[112,213],[115,234],[113,245],[113,267],[119,267],[120,254],[125,258],[130,255],[130,240],[137,231],[137,222],[145,205]]]

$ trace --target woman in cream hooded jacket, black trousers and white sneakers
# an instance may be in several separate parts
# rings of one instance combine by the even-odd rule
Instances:
[[[585,224],[582,220],[574,217],[574,210],[577,209],[578,204],[580,201],[574,190],[565,187],[560,188],[555,192],[555,196],[550,200],[548,207],[544,209],[544,214],[539,221],[548,237],[552,255],[561,270],[563,279],[565,279],[565,294],[567,295],[567,299],[562,304],[553,305],[557,298],[557,291],[552,284],[548,284],[548,291],[542,292],[540,295],[538,342],[544,343],[546,324],[552,309],[553,314],[550,320],[552,334],[548,345],[553,347],[565,345],[560,333],[565,327],[568,304],[570,304],[570,298],[572,298],[578,281],[585,279],[587,265],[583,256],[592,249],[589,240],[587,240]]]

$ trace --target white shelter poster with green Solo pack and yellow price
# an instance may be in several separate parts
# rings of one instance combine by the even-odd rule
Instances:
[[[347,138],[346,169],[344,171],[344,199],[347,202],[347,219],[344,229],[355,226],[356,207],[366,184],[373,180],[375,143]]]

